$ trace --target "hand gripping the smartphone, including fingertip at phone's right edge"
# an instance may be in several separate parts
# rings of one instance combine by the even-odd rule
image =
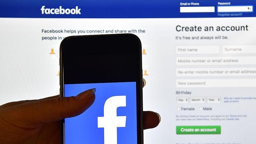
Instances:
[[[61,120],[88,109],[95,100],[95,89],[77,96],[59,95],[0,106],[0,141],[3,144],[59,144]],[[156,127],[160,117],[143,111],[143,129]]]

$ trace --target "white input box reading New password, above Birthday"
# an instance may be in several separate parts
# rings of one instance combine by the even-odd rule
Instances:
[[[256,79],[177,79],[176,87],[256,87]]]

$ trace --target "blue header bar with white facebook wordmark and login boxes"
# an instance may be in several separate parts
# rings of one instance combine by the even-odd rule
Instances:
[[[256,0],[1,0],[1,18],[256,17]]]

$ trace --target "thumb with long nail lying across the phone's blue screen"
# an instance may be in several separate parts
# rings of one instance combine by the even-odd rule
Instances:
[[[77,96],[43,99],[23,103],[14,111],[20,121],[29,124],[45,124],[74,117],[88,109],[95,100],[96,89],[81,92]]]

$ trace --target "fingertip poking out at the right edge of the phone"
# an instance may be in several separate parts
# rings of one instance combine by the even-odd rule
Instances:
[[[143,129],[151,129],[158,126],[161,117],[153,111],[143,111]]]

